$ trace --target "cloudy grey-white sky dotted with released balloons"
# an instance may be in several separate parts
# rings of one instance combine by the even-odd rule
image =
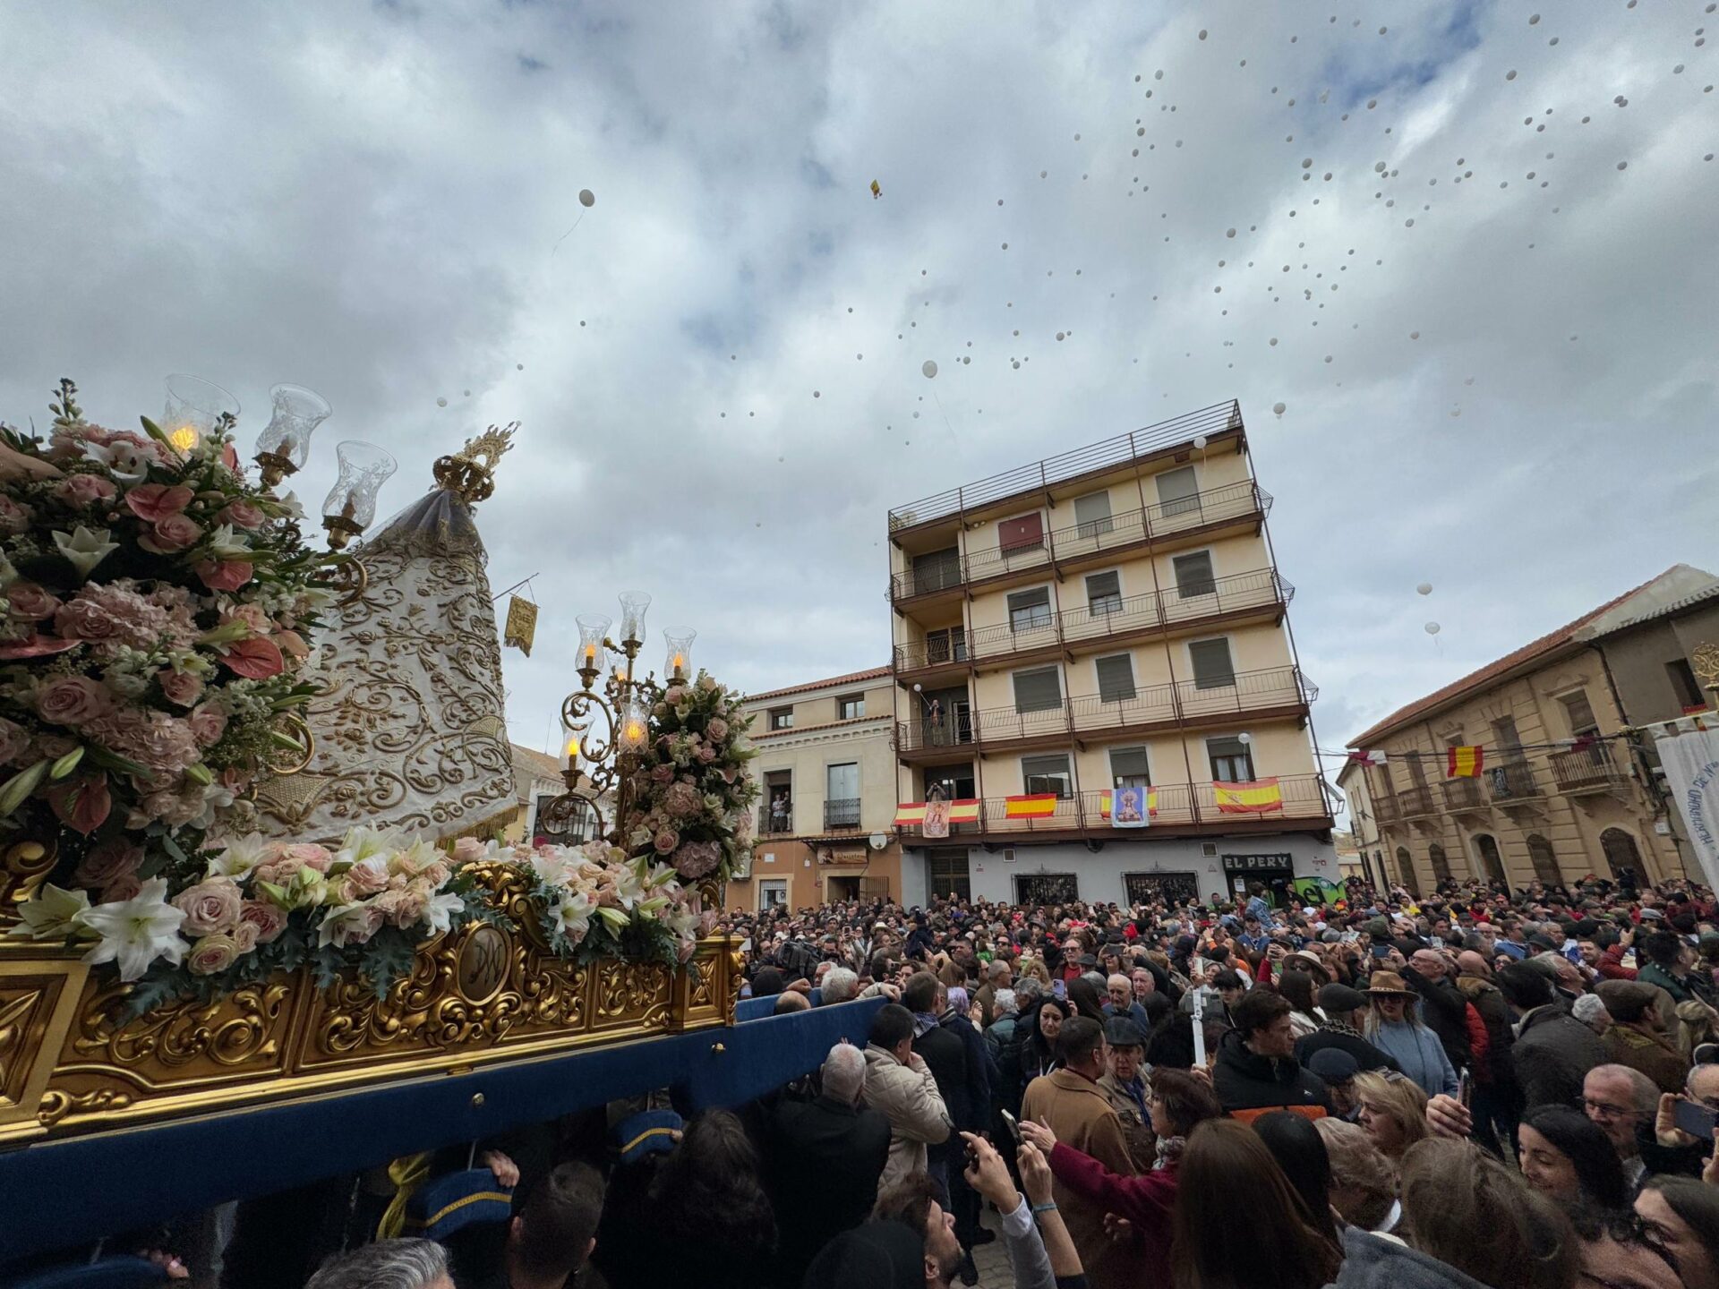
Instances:
[[[545,746],[617,591],[878,665],[890,505],[1239,399],[1336,746],[1719,567],[1719,14],[1537,3],[7,5],[0,416],[304,383],[383,512],[523,421]]]

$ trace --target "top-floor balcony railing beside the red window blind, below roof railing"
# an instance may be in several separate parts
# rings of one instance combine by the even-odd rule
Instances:
[[[951,555],[921,569],[902,569],[889,581],[892,600],[947,591],[963,583],[976,583],[1009,572],[1025,572],[1067,560],[1102,555],[1148,538],[1186,533],[1191,528],[1231,519],[1246,519],[1272,509],[1272,495],[1253,480],[1226,483],[1174,502],[1159,502],[1145,510],[1124,510],[1105,519],[1052,529],[1038,541],[1019,547],[983,547],[964,555]]]

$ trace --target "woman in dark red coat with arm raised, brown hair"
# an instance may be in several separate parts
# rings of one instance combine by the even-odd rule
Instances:
[[[1176,1165],[1181,1160],[1188,1133],[1202,1119],[1217,1119],[1222,1110],[1212,1086],[1181,1069],[1155,1069],[1152,1072],[1152,1131],[1157,1134],[1157,1162],[1148,1172],[1124,1177],[1110,1172],[1092,1155],[1081,1153],[1055,1139],[1055,1134],[1031,1121],[1021,1121],[1021,1136],[1031,1141],[1050,1160],[1055,1174],[1069,1191],[1105,1210],[1105,1225],[1114,1213],[1129,1232],[1138,1267],[1145,1284],[1169,1284],[1171,1215],[1176,1210]]]

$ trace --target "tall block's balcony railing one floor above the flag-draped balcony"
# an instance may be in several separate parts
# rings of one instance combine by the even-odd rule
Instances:
[[[1234,672],[1222,684],[1178,681],[1135,687],[1128,694],[1080,694],[1021,712],[1014,706],[920,717],[896,725],[896,751],[1018,742],[1023,739],[1098,734],[1148,725],[1203,724],[1251,712],[1300,708],[1318,698],[1318,686],[1294,667]]]

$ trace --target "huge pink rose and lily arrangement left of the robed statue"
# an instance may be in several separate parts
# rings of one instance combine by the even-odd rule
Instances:
[[[124,902],[292,742],[332,590],[297,502],[241,474],[230,418],[107,430],[76,392],[46,443],[0,426],[0,835]]]

